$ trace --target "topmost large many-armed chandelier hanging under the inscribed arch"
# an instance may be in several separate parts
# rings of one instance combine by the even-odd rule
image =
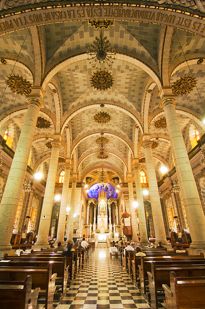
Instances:
[[[103,37],[102,32],[100,37],[95,37],[93,43],[90,44],[90,47],[87,49],[87,60],[90,60],[89,63],[93,63],[93,68],[98,68],[101,63],[103,63],[105,68],[105,63],[110,66],[110,63],[113,63],[115,60],[115,51],[114,46],[111,46],[107,36]]]

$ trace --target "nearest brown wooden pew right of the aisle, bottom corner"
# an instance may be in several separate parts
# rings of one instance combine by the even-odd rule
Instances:
[[[205,308],[205,278],[177,278],[170,272],[170,288],[166,284],[166,309]]]

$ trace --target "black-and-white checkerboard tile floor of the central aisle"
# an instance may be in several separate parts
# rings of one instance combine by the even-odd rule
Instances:
[[[60,288],[60,287],[59,287]],[[44,308],[43,299],[40,308]],[[56,309],[150,308],[119,260],[110,258],[106,243],[98,243],[81,273]],[[163,308],[159,303],[159,308]]]

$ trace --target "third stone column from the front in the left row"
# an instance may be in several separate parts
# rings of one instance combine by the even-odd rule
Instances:
[[[65,175],[61,195],[61,206],[58,219],[58,231],[55,245],[57,245],[59,241],[61,241],[62,245],[65,244],[64,235],[65,235],[65,221],[66,221],[67,204],[68,204],[70,170],[72,168],[71,159],[66,159],[64,168],[65,168]]]

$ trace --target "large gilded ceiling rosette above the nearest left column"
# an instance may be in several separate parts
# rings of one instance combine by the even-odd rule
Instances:
[[[27,81],[27,79],[23,78],[23,76],[19,76],[19,74],[6,76],[5,82],[10,87],[13,92],[21,95],[29,95],[31,93],[32,84]]]

